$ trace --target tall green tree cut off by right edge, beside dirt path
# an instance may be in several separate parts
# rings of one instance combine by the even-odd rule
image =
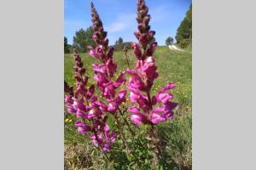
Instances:
[[[180,43],[185,39],[192,39],[192,4],[180,26],[177,28],[175,39],[177,43]]]

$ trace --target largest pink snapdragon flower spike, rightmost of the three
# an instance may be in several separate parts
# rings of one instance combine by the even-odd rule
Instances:
[[[173,95],[169,94],[169,90],[175,88],[173,83],[168,83],[165,88],[152,98],[150,97],[154,79],[159,74],[153,57],[157,42],[154,42],[155,32],[150,31],[148,26],[149,20],[148,7],[143,0],[139,0],[137,3],[138,31],[135,32],[139,44],[131,43],[133,52],[137,56],[137,70],[127,69],[126,71],[131,75],[128,87],[131,91],[131,102],[137,103],[137,106],[130,107],[128,111],[132,114],[131,121],[137,125],[165,122],[172,118],[172,110],[177,106],[177,103],[171,101]]]

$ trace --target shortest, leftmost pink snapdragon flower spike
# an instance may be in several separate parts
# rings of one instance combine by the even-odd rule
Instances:
[[[111,144],[116,139],[116,133],[110,132],[107,119],[108,116],[104,112],[108,111],[108,105],[99,101],[94,95],[95,86],[86,87],[88,77],[84,77],[85,69],[79,54],[74,50],[75,59],[75,79],[76,89],[73,93],[65,95],[65,105],[67,111],[73,113],[77,117],[75,126],[78,132],[85,134],[90,132],[90,139],[96,146],[101,146],[102,150],[110,150]],[[71,91],[66,85],[66,92]]]

